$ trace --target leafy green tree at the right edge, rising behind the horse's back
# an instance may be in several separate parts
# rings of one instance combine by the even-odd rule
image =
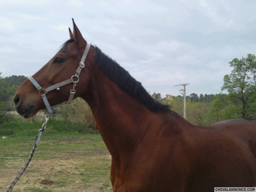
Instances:
[[[238,99],[237,106],[241,105],[242,118],[256,119],[256,57],[248,54],[246,58],[233,59],[229,62],[233,67],[231,74],[224,76],[221,90],[227,90],[230,99]]]

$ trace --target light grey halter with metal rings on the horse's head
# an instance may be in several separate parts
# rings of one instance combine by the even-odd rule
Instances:
[[[69,98],[68,98],[67,102],[65,102],[64,104],[66,104],[66,103],[70,104],[72,102],[72,100],[74,98],[74,95],[76,93],[76,90],[75,90],[76,83],[78,83],[80,72],[84,68],[84,62],[86,60],[86,57],[87,57],[87,54],[89,52],[90,46],[91,46],[91,44],[87,44],[86,45],[86,48],[84,50],[82,59],[81,59],[81,61],[79,63],[79,67],[76,69],[75,75],[73,75],[70,79],[67,79],[67,80],[65,80],[63,82],[60,82],[60,83],[57,83],[57,84],[54,84],[53,86],[50,86],[48,88],[42,88],[39,85],[39,83],[37,83],[37,81],[32,76],[30,76],[28,78],[30,80],[30,82],[35,86],[35,88],[37,88],[38,93],[41,95],[41,97],[42,97],[42,99],[43,99],[43,101],[45,103],[45,107],[46,107],[46,110],[48,111],[48,113],[53,113],[53,111],[56,109],[56,108],[54,108],[54,109],[51,108],[50,103],[49,103],[49,101],[48,101],[48,99],[46,97],[46,94],[49,91],[52,91],[54,89],[59,89],[60,87],[66,85],[66,84],[73,83],[73,89],[70,90]],[[74,80],[73,78],[76,78],[77,80]]]

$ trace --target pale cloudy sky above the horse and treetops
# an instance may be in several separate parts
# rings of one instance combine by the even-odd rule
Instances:
[[[253,0],[1,0],[1,76],[31,76],[69,39],[116,60],[150,93],[221,93],[229,62],[256,52]],[[225,93],[225,91],[223,91]]]

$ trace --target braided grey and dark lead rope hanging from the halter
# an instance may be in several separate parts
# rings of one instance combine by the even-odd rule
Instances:
[[[12,184],[10,185],[9,189],[6,191],[6,192],[11,192],[12,189],[14,188],[15,184],[18,182],[19,178],[22,176],[22,174],[25,172],[27,166],[29,165],[34,153],[35,153],[35,148],[37,148],[37,145],[39,143],[39,140],[41,139],[41,135],[43,133],[43,131],[45,130],[46,128],[46,124],[47,124],[47,121],[49,120],[49,117],[50,117],[50,114],[46,114],[45,115],[45,122],[44,124],[42,125],[42,128],[39,129],[39,133],[37,135],[37,137],[35,138],[35,144],[34,144],[34,147],[29,155],[29,160],[27,160],[26,164],[23,166],[22,170],[19,172],[18,176],[15,178],[15,180],[12,182]]]

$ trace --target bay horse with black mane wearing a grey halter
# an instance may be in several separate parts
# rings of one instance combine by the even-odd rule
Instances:
[[[83,98],[112,155],[114,192],[209,192],[214,187],[256,186],[256,123],[189,123],[155,101],[98,47],[87,44],[74,19],[73,25],[60,51],[16,91],[20,115],[29,118],[45,109],[45,98],[50,106]],[[86,59],[80,62],[86,48]],[[70,77],[69,83],[60,85]]]

